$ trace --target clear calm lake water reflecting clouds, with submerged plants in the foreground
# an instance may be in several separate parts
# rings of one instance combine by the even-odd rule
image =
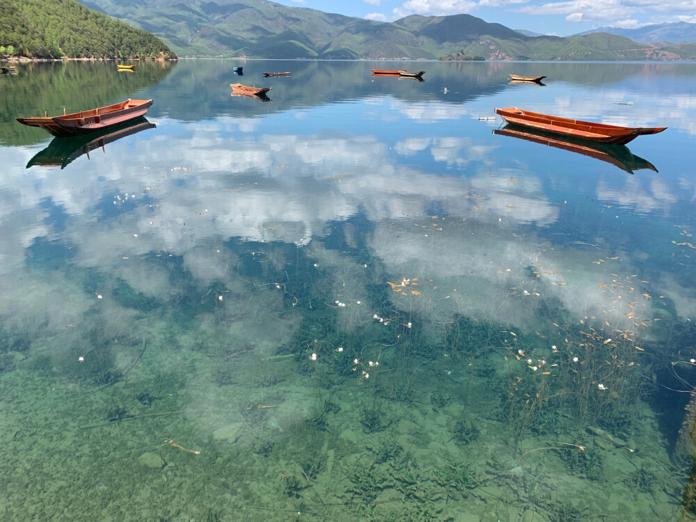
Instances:
[[[695,520],[695,81],[2,74],[3,518]],[[116,135],[15,121],[129,97],[154,104]],[[668,128],[592,148],[509,132],[512,106]]]

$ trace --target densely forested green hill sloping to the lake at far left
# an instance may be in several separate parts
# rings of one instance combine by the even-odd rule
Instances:
[[[0,1],[0,55],[176,58],[152,34],[74,0]]]

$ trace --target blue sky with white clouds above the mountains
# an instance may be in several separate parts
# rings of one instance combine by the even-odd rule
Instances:
[[[663,22],[696,23],[696,0],[275,0],[285,6],[307,7],[393,22],[408,15],[466,13],[510,29],[569,36],[597,27],[635,29]]]

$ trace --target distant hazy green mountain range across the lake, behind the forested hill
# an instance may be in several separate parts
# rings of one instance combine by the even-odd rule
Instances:
[[[324,59],[695,60],[696,45],[640,44],[622,35],[529,36],[470,15],[395,22],[266,0],[82,0],[144,29],[185,56]]]

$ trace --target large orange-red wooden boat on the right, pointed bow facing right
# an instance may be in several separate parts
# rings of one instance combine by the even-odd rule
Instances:
[[[606,125],[583,120],[573,120],[560,116],[550,116],[532,111],[523,111],[517,107],[496,109],[496,114],[503,116],[503,120],[511,125],[521,125],[531,129],[537,129],[552,134],[570,136],[596,143],[612,143],[614,145],[626,145],[629,141],[642,136],[642,134],[657,134],[667,127],[619,127],[618,125]]]

